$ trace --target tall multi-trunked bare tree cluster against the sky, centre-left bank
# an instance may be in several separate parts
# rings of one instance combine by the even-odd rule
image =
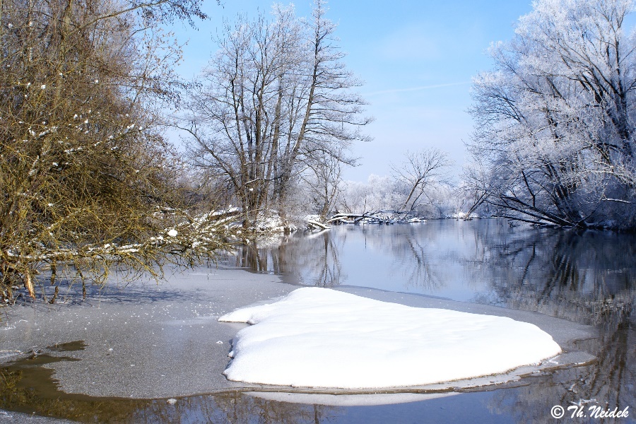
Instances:
[[[284,216],[290,189],[304,172],[367,139],[360,126],[360,82],[343,64],[334,31],[317,1],[311,20],[275,5],[271,19],[239,17],[192,93],[182,125],[192,135],[194,163],[231,187],[249,227],[262,211]]]

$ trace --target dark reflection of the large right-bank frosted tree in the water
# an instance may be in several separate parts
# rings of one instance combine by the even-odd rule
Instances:
[[[587,414],[591,405],[609,410],[633,408],[635,236],[563,230],[535,230],[527,235],[491,246],[510,269],[510,279],[497,278],[493,291],[507,307],[596,326],[600,337],[580,344],[598,360],[590,366],[555,372],[525,392],[497,391],[493,408],[514,413],[517,421],[526,423],[545,419],[546,411],[556,404],[567,408],[591,401],[584,406]],[[516,406],[511,408],[511,404]]]

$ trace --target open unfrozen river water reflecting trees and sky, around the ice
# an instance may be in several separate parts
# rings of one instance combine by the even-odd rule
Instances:
[[[23,361],[0,374],[0,408],[97,423],[553,423],[553,406],[578,404],[587,417],[570,418],[574,411],[565,411],[559,422],[636,422],[636,235],[510,226],[505,220],[345,225],[290,235],[267,247],[254,242],[226,264],[304,285],[417,293],[589,324],[600,336],[579,345],[598,359],[512,386],[376,406],[293,403],[240,391],[175,404],[91,399],[25,383],[40,379],[50,388],[51,376],[33,377],[40,368]],[[593,418],[590,406],[627,407],[629,416]]]

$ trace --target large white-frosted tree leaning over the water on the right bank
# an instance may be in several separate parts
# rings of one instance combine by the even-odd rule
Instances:
[[[504,215],[636,226],[636,39],[627,0],[539,0],[474,78],[477,191]]]

